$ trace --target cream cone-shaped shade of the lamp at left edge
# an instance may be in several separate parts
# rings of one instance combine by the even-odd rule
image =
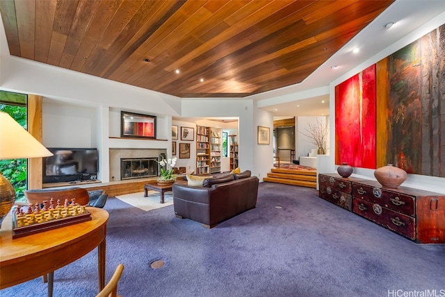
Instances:
[[[0,112],[0,159],[53,155],[6,112]]]

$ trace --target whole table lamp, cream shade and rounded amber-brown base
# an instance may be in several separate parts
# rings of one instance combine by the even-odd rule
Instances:
[[[53,155],[6,112],[0,112],[0,160]],[[0,172],[0,228],[15,201],[13,185]]]

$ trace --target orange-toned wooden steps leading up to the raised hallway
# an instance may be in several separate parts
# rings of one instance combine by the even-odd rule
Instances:
[[[316,188],[316,170],[295,170],[295,169],[271,169],[267,177],[263,178],[265,182],[280,183],[286,185],[298,185],[301,187]]]

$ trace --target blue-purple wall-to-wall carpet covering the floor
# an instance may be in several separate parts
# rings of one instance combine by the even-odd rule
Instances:
[[[408,296],[400,294],[445,289],[444,244],[415,244],[311,188],[261,183],[254,210],[212,229],[176,218],[173,206],[145,212],[110,198],[105,209],[106,279],[123,263],[124,297]],[[153,269],[156,260],[165,266]],[[54,278],[56,297],[95,296],[97,251]],[[38,278],[0,296],[46,293]]]

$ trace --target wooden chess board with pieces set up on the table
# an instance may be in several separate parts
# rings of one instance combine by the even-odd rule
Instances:
[[[44,232],[75,223],[90,221],[91,214],[85,206],[72,201],[64,205],[47,207],[46,201],[40,205],[18,206],[13,210],[13,238]]]

